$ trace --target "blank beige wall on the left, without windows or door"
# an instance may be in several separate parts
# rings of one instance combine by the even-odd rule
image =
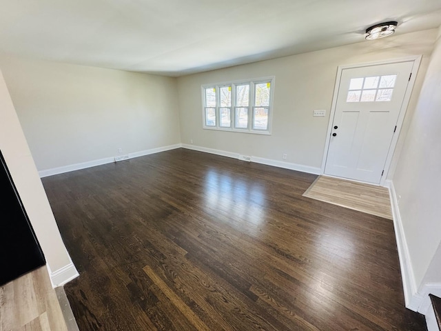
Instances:
[[[179,143],[176,79],[0,57],[38,170]]]

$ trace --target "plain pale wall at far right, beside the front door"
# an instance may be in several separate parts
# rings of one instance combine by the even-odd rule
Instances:
[[[441,28],[440,28],[441,34]],[[441,38],[427,74],[397,163],[393,184],[416,285],[422,285],[431,261],[441,261]],[[431,282],[441,283],[441,265]],[[435,272],[436,271],[436,272]],[[438,274],[438,277],[432,276]]]

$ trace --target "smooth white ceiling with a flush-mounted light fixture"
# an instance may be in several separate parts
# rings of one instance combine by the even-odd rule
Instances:
[[[181,76],[441,25],[441,0],[0,0],[0,52]],[[365,41],[375,42],[375,41]]]

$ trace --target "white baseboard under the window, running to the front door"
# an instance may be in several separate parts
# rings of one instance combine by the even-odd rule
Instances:
[[[242,155],[234,152],[227,152],[225,150],[216,150],[214,148],[206,148],[201,146],[187,145],[185,143],[182,144],[182,148],[187,148],[188,150],[198,150],[199,152],[206,152],[210,154],[221,155],[223,157],[231,157],[232,159],[242,159]],[[251,161],[255,163],[261,163],[265,165],[272,165],[278,168],[285,168],[289,170],[296,170],[300,172],[308,172],[309,174],[320,174],[320,168],[310,167],[309,165],[301,165],[296,163],[290,163],[285,161],[277,161],[273,159],[265,159],[263,157],[251,157]]]

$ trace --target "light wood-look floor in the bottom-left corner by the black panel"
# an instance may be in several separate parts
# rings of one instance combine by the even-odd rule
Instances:
[[[0,331],[68,331],[46,267],[0,287]]]

